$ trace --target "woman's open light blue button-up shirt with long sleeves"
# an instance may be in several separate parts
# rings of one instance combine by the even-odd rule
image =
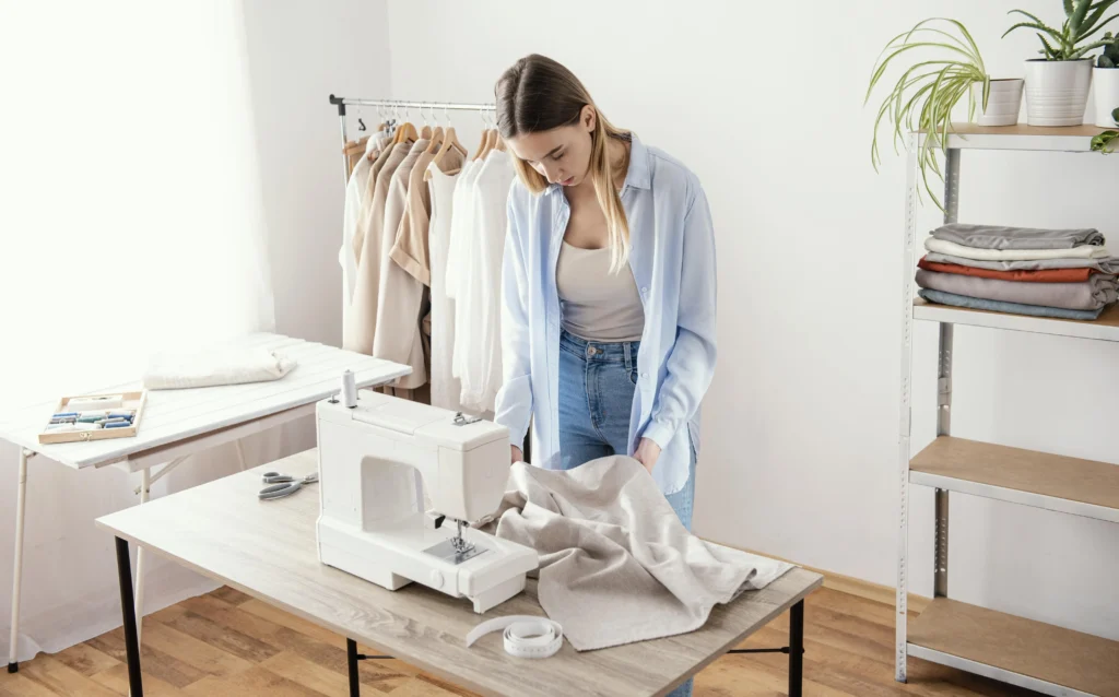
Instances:
[[[621,191],[629,265],[645,305],[629,455],[641,437],[661,448],[652,475],[684,488],[699,451],[699,403],[715,369],[715,234],[699,180],[634,135]],[[515,445],[533,424],[533,463],[560,467],[560,293],[556,263],[571,206],[560,185],[509,191],[501,279],[504,384],[496,421]]]

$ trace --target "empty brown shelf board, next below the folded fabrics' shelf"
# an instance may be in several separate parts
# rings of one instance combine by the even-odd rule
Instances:
[[[1119,522],[1119,465],[942,435],[910,462],[910,482]]]

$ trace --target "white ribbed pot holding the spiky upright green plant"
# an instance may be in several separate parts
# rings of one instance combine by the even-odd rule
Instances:
[[[1026,60],[1026,122],[1080,125],[1092,86],[1092,59]]]

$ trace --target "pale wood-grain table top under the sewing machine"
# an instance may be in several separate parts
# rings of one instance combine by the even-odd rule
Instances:
[[[257,500],[262,472],[305,474],[317,468],[317,451],[309,450],[104,516],[97,524],[263,602],[486,695],[666,694],[822,582],[819,574],[794,568],[761,591],[716,605],[696,632],[585,652],[564,642],[552,658],[526,663],[505,652],[500,632],[469,649],[466,635],[485,619],[544,615],[535,581],[483,615],[464,599],[419,584],[388,591],[319,562],[319,497],[313,484],[284,499]]]

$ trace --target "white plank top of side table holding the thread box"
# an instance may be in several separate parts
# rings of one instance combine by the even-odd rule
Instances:
[[[346,368],[354,373],[358,387],[388,383],[411,371],[407,366],[372,356],[273,333],[248,335],[223,346],[280,350],[298,365],[283,378],[267,383],[149,390],[140,432],[135,437],[40,444],[39,433],[58,406],[58,398],[55,398],[0,415],[0,439],[67,467],[98,467],[120,462],[152,448],[325,399],[338,392]],[[141,388],[141,383],[137,382],[107,387],[95,394]]]

